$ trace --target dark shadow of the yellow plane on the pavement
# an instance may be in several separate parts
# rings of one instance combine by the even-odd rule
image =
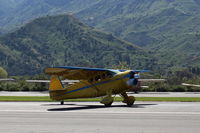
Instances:
[[[67,105],[67,104],[65,104],[65,105]],[[134,104],[131,107],[128,107],[127,105],[112,105],[111,107],[105,107],[104,105],[76,105],[78,107],[52,108],[52,109],[48,109],[47,111],[76,111],[76,110],[90,110],[90,109],[118,108],[118,107],[146,108],[146,106],[153,106],[153,105],[157,105],[157,104]]]

